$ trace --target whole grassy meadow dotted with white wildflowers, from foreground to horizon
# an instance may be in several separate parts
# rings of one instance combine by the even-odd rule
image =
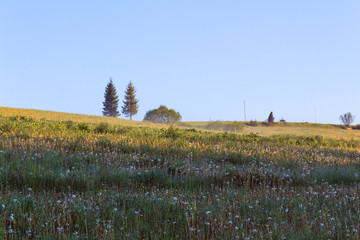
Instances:
[[[360,237],[357,130],[0,116],[0,239]]]

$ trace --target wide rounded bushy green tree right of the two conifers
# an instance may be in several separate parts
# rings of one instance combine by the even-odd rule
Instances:
[[[168,109],[161,105],[158,109],[150,110],[146,113],[144,121],[159,123],[174,123],[181,120],[181,115],[174,109]]]

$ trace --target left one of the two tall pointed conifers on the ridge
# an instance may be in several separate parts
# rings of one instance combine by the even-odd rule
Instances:
[[[107,117],[117,117],[120,116],[118,111],[119,98],[116,94],[115,86],[110,78],[110,82],[105,89],[105,101],[103,102],[103,115]]]

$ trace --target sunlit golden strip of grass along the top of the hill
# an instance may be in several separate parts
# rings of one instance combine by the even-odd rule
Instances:
[[[35,110],[24,108],[0,107],[0,116],[26,116],[33,119],[45,119],[50,121],[73,121],[85,123],[109,123],[112,125],[123,125],[130,127],[150,127],[168,128],[169,124],[152,123],[146,121],[135,121],[121,118],[110,118],[95,115],[85,115],[77,113],[65,113],[48,110]],[[301,135],[301,136],[324,136],[332,138],[351,138],[360,139],[360,131],[345,130],[342,125],[322,124],[322,123],[299,123],[286,122],[276,123],[273,127],[265,126],[262,122],[257,122],[258,126],[249,126],[249,122],[242,121],[212,121],[212,122],[180,122],[176,124],[178,128],[194,128],[197,130],[215,132],[234,132],[240,134],[256,133],[262,136],[270,135]],[[234,127],[235,126],[235,127]]]

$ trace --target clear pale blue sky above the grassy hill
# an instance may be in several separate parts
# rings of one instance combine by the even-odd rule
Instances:
[[[360,122],[360,1],[0,0],[0,106],[102,114],[113,78],[139,113],[184,121]],[[124,116],[121,116],[123,118]]]

